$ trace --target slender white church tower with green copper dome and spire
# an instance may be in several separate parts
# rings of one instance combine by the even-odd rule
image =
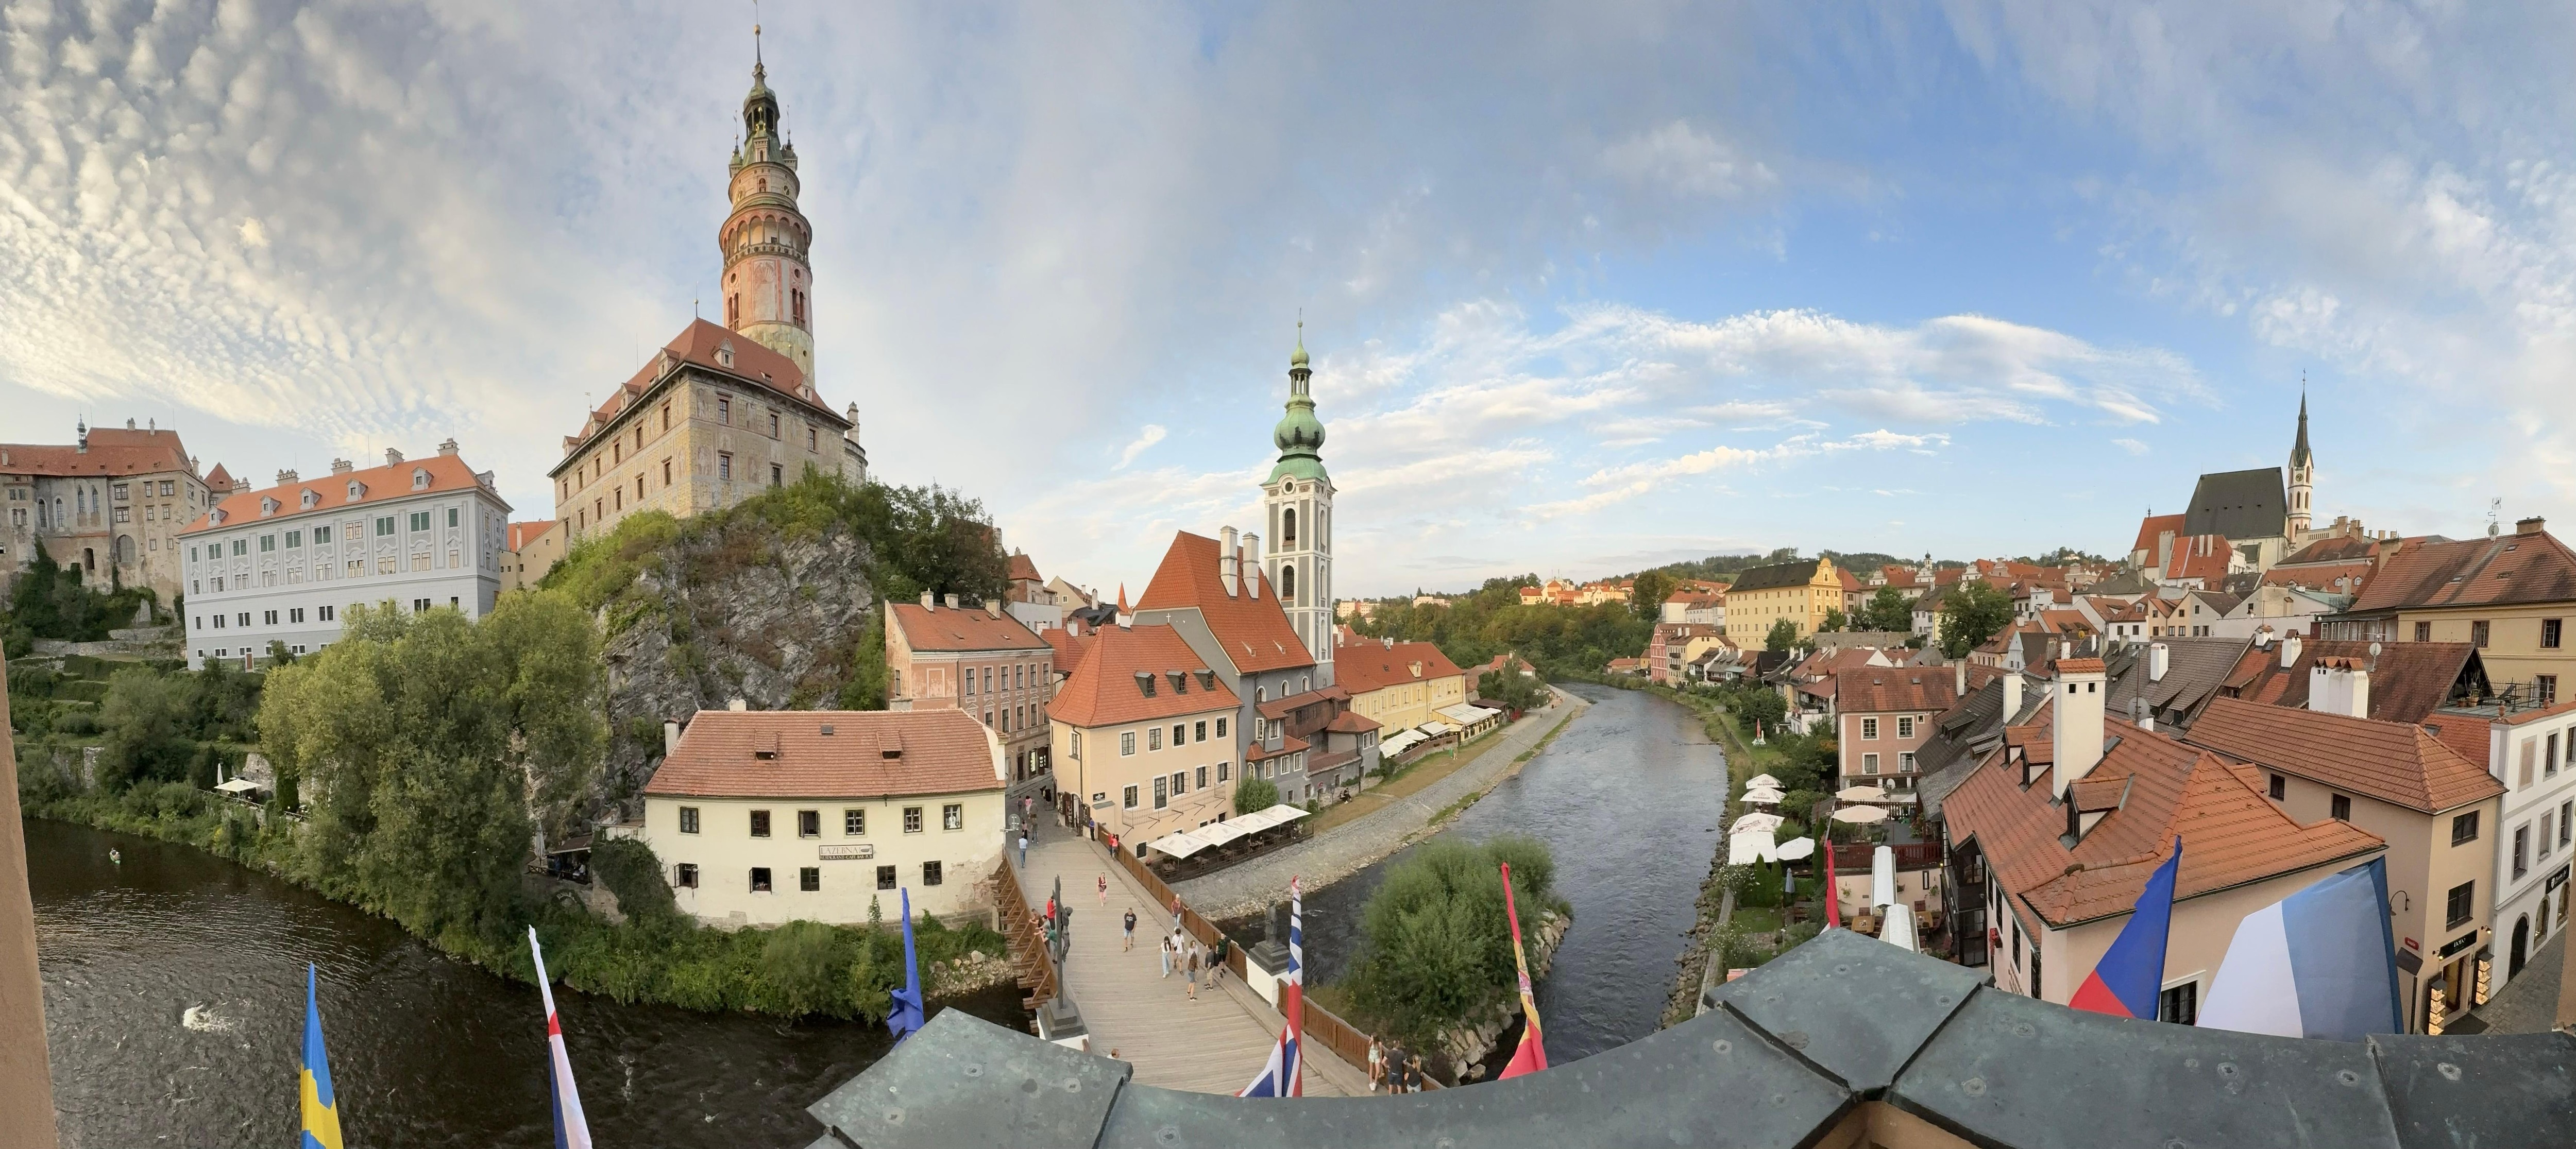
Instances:
[[[1262,482],[1262,518],[1270,520],[1273,551],[1262,572],[1288,611],[1288,626],[1306,639],[1321,683],[1332,685],[1332,477],[1324,474],[1324,423],[1314,417],[1306,394],[1306,325],[1298,322],[1296,353],[1288,356],[1288,415],[1270,430],[1280,448],[1278,466]]]

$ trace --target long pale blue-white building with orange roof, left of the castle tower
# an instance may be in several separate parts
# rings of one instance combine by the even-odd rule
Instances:
[[[353,469],[322,479],[278,471],[268,489],[224,495],[180,531],[188,667],[265,660],[270,641],[309,654],[340,639],[350,605],[451,605],[482,618],[500,595],[510,505],[456,456]]]

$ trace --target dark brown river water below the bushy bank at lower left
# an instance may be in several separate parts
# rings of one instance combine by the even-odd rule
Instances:
[[[554,1144],[536,987],[201,850],[31,819],[26,853],[64,1146],[294,1144],[307,961],[348,1144]],[[863,1023],[556,1007],[600,1144],[806,1146],[804,1108],[891,1049]],[[961,1007],[1025,1025],[1015,989]]]

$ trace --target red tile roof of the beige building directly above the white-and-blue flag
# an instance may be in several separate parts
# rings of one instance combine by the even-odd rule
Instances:
[[[2424,814],[2504,793],[2486,765],[2411,721],[2210,698],[2184,742]]]

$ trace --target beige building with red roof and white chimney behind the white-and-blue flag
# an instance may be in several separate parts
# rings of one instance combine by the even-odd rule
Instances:
[[[2504,786],[2419,724],[2352,716],[2367,698],[2360,660],[2318,660],[2311,708],[2213,698],[2184,742],[2259,770],[2293,819],[2347,822],[2388,842],[2398,992],[2406,1030],[2424,1033],[2432,989],[2447,1012],[2476,992],[2494,935]]]

